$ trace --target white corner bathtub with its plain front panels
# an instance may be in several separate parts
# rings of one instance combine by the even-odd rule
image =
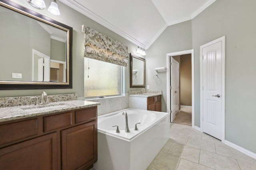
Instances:
[[[125,133],[128,115],[130,133]],[[135,124],[138,131],[134,131]],[[119,126],[120,133],[116,133]],[[170,114],[140,109],[124,109],[98,117],[97,170],[146,170],[169,139]]]

